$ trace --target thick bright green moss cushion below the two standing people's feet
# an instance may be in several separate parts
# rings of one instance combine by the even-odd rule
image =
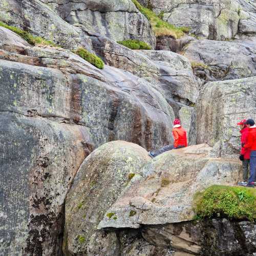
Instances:
[[[194,197],[196,218],[256,219],[256,189],[214,185]]]

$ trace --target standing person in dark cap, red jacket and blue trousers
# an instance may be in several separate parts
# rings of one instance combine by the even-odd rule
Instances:
[[[256,173],[256,125],[253,119],[246,121],[249,128],[249,134],[245,148],[249,148],[250,153],[250,177],[247,183],[247,187],[254,187],[255,173]]]

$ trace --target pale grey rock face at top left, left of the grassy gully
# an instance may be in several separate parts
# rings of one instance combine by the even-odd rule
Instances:
[[[131,0],[78,3],[3,0],[0,19],[68,49],[79,45],[90,47],[90,34],[113,40],[140,39],[153,48],[156,45],[150,23]]]

